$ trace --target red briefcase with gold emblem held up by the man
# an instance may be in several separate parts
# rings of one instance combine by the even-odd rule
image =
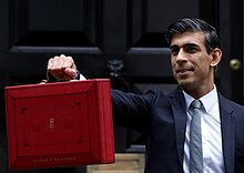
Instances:
[[[9,167],[114,162],[110,81],[6,88]]]

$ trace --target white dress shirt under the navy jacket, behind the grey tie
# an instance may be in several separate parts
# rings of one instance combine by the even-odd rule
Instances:
[[[192,119],[192,112],[189,110],[190,104],[194,100],[187,93],[184,93],[186,103],[186,131],[184,142],[184,160],[183,170],[184,173],[190,172],[190,124]],[[203,103],[201,110],[201,126],[202,126],[202,149],[203,149],[203,170],[204,173],[224,173],[224,160],[223,160],[223,146],[221,134],[221,120],[220,120],[220,106],[216,88],[200,98]]]

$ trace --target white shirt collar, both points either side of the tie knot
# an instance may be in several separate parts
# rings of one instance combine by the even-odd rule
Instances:
[[[190,94],[183,91],[184,98],[185,98],[185,104],[186,104],[186,110],[189,109],[190,104],[192,103],[194,98],[192,98]],[[210,112],[210,110],[214,106],[214,104],[217,101],[217,91],[216,86],[214,85],[213,90],[209,92],[207,94],[203,95],[200,98],[201,102],[203,103],[204,110],[206,112]]]

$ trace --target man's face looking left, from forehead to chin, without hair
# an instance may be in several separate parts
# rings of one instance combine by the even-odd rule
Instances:
[[[175,34],[170,48],[174,78],[184,90],[213,88],[213,57],[206,52],[203,32]]]

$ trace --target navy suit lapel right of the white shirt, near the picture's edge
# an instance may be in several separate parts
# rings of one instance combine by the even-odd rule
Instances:
[[[234,110],[220,94],[220,114],[222,124],[222,145],[226,173],[234,173],[235,154],[235,119]]]

